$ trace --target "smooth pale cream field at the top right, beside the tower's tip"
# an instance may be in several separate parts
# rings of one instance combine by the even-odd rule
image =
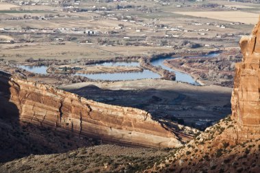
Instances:
[[[259,14],[250,12],[174,12],[188,16],[213,18],[221,21],[240,22],[246,24],[255,24],[258,21]]]

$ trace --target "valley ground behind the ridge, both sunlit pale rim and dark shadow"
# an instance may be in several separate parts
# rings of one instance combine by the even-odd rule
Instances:
[[[111,105],[136,107],[203,129],[231,114],[231,88],[195,86],[161,79],[85,82],[60,86],[62,90]],[[184,121],[184,122],[183,122]]]

